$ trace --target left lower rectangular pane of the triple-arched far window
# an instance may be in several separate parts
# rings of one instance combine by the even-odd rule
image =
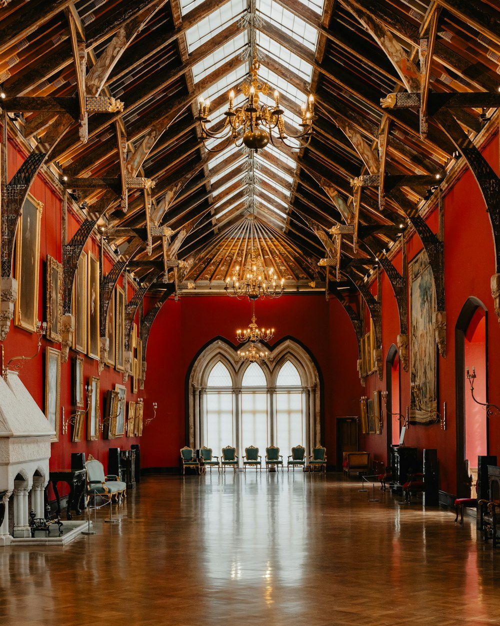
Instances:
[[[232,424],[232,392],[207,393],[205,445],[214,456],[220,457],[222,448],[234,445]]]

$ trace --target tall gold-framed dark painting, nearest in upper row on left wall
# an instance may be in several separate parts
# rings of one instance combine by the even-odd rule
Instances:
[[[16,279],[14,306],[16,326],[36,332],[38,321],[38,281],[40,257],[40,222],[43,204],[28,193],[17,225]]]

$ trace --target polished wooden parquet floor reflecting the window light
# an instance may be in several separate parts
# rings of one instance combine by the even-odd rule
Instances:
[[[6,626],[500,623],[500,550],[466,516],[301,471],[150,476],[64,548],[0,548]]]

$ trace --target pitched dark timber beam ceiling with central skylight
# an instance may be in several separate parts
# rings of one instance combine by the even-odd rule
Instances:
[[[4,1],[0,85],[6,99],[0,106],[33,150],[46,150],[54,120],[61,115],[57,108],[70,101],[61,99],[74,99],[74,111],[68,110],[73,121],[51,145],[47,165],[84,212],[98,218],[116,254],[129,260],[139,279],[156,279],[167,259],[171,266],[175,260],[187,261],[181,263],[178,289],[194,283],[196,292],[214,292],[242,265],[249,249],[249,155],[234,149],[217,160],[218,153],[206,151],[196,121],[197,98],[211,94],[227,76],[231,80],[248,72],[244,49],[217,54],[247,29],[241,19],[247,3],[239,3],[242,11],[236,3],[236,16],[190,51],[190,29],[219,9],[226,11],[228,3],[182,1],[186,6],[179,0]],[[339,279],[347,274],[362,279],[374,258],[388,252],[407,227],[407,210],[397,195],[387,192],[381,200],[375,185],[363,187],[355,200],[354,179],[377,175],[383,159],[386,180],[406,177],[398,179],[401,193],[421,208],[436,192],[436,175],[446,180],[459,158],[430,106],[428,130],[422,133],[419,110],[384,108],[381,99],[421,91],[422,81],[426,94],[497,94],[500,85],[500,11],[494,0],[326,0],[321,13],[312,4],[257,2],[262,66],[301,93],[312,91],[316,100],[309,145],[264,148],[257,155],[259,252],[264,265],[274,267],[295,292],[324,289],[327,268],[317,264],[325,257],[336,264],[340,242],[329,230],[346,225],[356,202],[358,242],[354,244],[352,229],[344,229]],[[314,29],[314,50],[294,36],[293,28],[277,24],[280,11],[283,22],[291,23],[295,16],[293,28],[306,24]],[[267,38],[272,46],[266,46]],[[422,39],[430,57],[426,70],[419,61]],[[275,44],[311,66],[311,80],[278,58]],[[196,79],[202,61],[208,70]],[[225,105],[227,91],[216,95],[213,111]],[[89,112],[84,142],[79,133],[82,99],[97,95],[116,98],[124,108]],[[299,115],[291,96],[282,94],[281,102]],[[491,116],[488,102],[452,109],[469,138]],[[148,193],[129,187],[126,207],[126,176],[153,181],[151,215],[171,229],[168,239],[157,232],[149,250],[144,235]],[[154,286],[165,288],[172,274],[162,275]],[[330,279],[332,274],[329,270]],[[341,279],[338,286],[344,284]]]

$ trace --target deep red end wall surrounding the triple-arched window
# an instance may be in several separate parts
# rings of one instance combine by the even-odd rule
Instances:
[[[158,402],[159,418],[143,433],[143,466],[178,466],[179,449],[186,444],[185,386],[197,352],[215,337],[232,343],[238,327],[251,316],[249,302],[227,295],[181,297],[168,300],[154,321],[146,359],[146,399]],[[296,339],[314,357],[323,382],[324,444],[329,463],[335,463],[335,418],[357,415],[361,386],[357,377],[354,329],[336,299],[324,294],[282,295],[257,302],[257,321],[274,326],[274,345],[283,337]],[[146,400],[145,400],[146,401]]]

